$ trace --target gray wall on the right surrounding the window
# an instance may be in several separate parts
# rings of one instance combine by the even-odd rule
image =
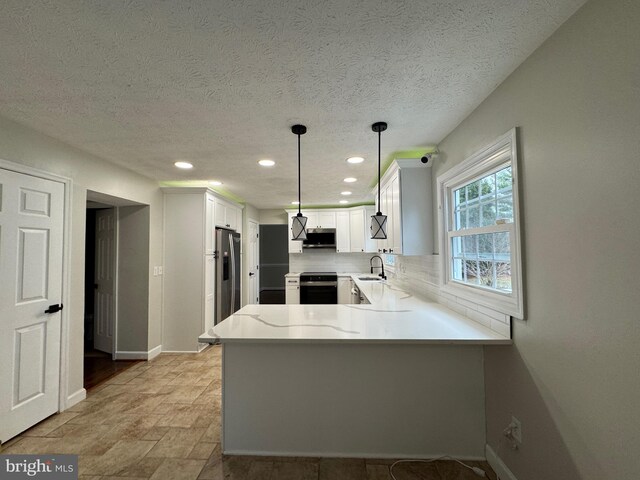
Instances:
[[[637,0],[587,3],[440,144],[436,176],[520,127],[527,316],[485,348],[487,440],[518,480],[640,472],[638,25]]]

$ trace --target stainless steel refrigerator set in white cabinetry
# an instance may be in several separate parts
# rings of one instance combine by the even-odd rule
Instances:
[[[240,309],[240,234],[216,228],[217,325]]]

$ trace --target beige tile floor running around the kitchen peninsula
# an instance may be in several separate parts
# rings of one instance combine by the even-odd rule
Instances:
[[[0,446],[1,453],[79,454],[100,480],[386,480],[388,460],[241,457],[220,453],[221,348],[162,354],[92,389],[87,399]],[[469,462],[495,474],[485,462]],[[403,464],[398,480],[472,480],[450,461]]]

